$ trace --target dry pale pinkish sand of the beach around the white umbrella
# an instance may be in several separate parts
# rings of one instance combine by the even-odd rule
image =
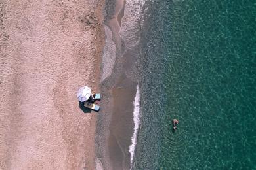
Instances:
[[[95,169],[104,1],[0,1],[0,169]]]

